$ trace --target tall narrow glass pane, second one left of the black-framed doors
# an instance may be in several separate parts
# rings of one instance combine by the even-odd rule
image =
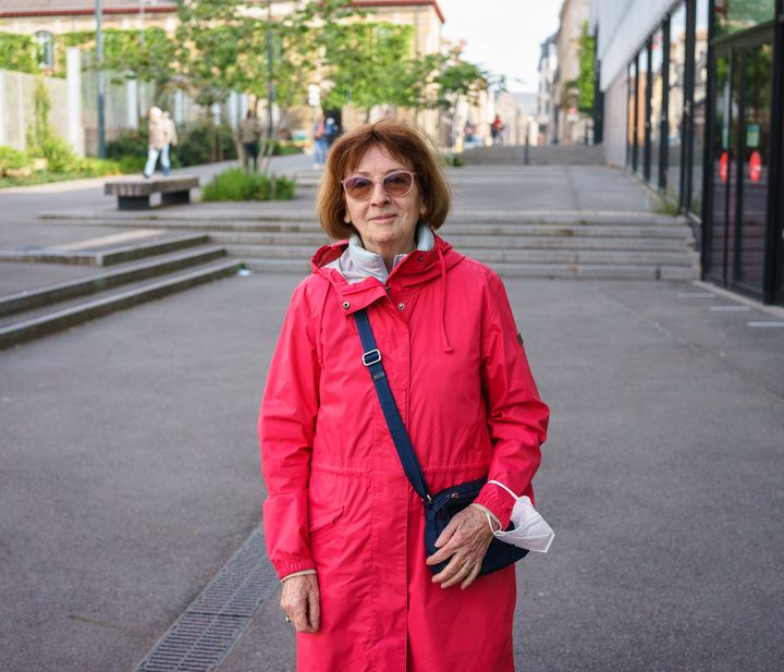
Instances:
[[[684,84],[686,80],[686,3],[670,19],[670,94],[667,102],[669,138],[666,190],[679,201],[681,161],[684,121]]]

